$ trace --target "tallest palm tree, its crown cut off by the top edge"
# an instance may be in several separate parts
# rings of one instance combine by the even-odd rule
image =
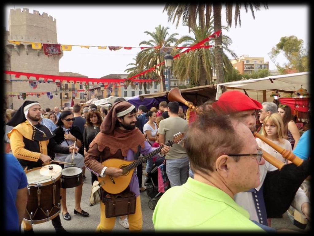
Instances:
[[[232,24],[232,3],[226,3],[226,22],[227,26],[231,27]],[[248,11],[248,8],[250,8],[252,12],[253,19],[255,19],[254,15],[254,8],[255,10],[260,10],[260,4],[259,3],[244,3],[244,7],[246,10],[246,13]],[[264,3],[264,8],[268,9],[268,5]],[[240,9],[241,9],[241,3],[235,3],[235,27],[237,25],[237,22],[239,22],[239,25],[241,27],[241,18],[240,18]],[[188,22],[189,25],[189,31],[192,26],[196,25],[196,20],[198,17],[199,25],[203,29],[203,27],[209,26],[209,21],[211,17],[211,12],[213,10],[214,13],[214,31],[221,30],[221,4],[166,4],[164,11],[167,11],[168,15],[168,21],[173,20],[172,23],[175,22],[177,19],[176,27],[179,24],[179,21],[182,17],[183,22]],[[220,48],[220,45],[222,45],[222,33],[219,37],[215,40],[215,58],[216,58],[216,78],[217,83],[223,83],[224,82],[224,76],[223,76],[223,69],[222,69],[222,48]]]

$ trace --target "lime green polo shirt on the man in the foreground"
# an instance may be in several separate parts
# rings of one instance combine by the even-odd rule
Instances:
[[[153,213],[158,230],[262,231],[249,213],[224,191],[188,178],[181,186],[168,189]],[[265,231],[264,231],[265,232]]]

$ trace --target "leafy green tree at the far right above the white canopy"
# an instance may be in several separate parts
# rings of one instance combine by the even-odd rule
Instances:
[[[276,63],[277,56],[280,53],[283,53],[288,60],[288,63],[284,63],[283,66]],[[280,74],[286,74],[286,69],[295,69],[298,72],[309,71],[309,58],[303,47],[303,40],[294,35],[281,37],[279,43],[272,48],[268,55]]]

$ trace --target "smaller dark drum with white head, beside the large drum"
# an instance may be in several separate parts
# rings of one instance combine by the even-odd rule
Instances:
[[[61,188],[74,188],[82,183],[83,170],[80,167],[69,166],[61,171]]]

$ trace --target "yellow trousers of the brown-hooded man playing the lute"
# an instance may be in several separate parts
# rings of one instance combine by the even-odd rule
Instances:
[[[116,217],[106,218],[105,215],[106,205],[100,201],[100,224],[96,228],[96,232],[111,231],[115,226]],[[138,195],[136,197],[135,213],[127,216],[130,231],[140,231],[143,227],[141,199]]]

